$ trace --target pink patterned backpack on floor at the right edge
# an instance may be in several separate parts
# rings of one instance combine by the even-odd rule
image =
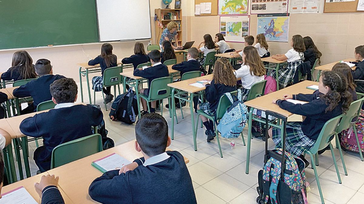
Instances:
[[[364,152],[364,111],[360,111],[357,122],[355,123],[355,128],[360,144],[360,151]],[[355,138],[353,128],[344,130],[341,132],[340,144],[343,148],[353,152],[359,152],[358,143]]]

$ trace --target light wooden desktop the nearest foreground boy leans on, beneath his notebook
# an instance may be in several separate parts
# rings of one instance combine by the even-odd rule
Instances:
[[[88,187],[91,182],[101,176],[102,173],[92,167],[91,162],[112,153],[119,154],[132,162],[134,159],[143,156],[141,152],[137,152],[134,149],[134,142],[135,140],[132,140],[108,150],[54,168],[48,171],[48,174],[59,176],[59,186],[64,192],[67,192],[67,195],[74,203],[96,203],[88,195]],[[185,162],[188,163],[189,159],[185,158]],[[72,174],[70,172],[72,172]]]

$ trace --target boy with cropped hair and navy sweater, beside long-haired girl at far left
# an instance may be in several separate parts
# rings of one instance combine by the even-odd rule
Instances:
[[[24,110],[21,110],[21,115],[35,112],[39,103],[51,100],[52,95],[49,86],[57,79],[65,78],[62,75],[53,75],[51,62],[47,59],[40,59],[35,63],[35,72],[39,78],[13,90],[13,95],[15,97],[33,97],[33,103]]]

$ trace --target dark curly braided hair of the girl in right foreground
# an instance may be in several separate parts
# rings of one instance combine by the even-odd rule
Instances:
[[[323,72],[321,77],[324,86],[328,86],[330,88],[330,90],[321,97],[324,99],[326,104],[329,105],[325,109],[325,112],[334,110],[341,102],[341,111],[346,113],[352,102],[352,96],[347,90],[348,83],[346,77],[344,77],[341,73],[332,71]]]

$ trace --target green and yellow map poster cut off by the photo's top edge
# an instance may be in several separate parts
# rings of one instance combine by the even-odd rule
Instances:
[[[219,15],[248,14],[248,0],[219,0]]]

